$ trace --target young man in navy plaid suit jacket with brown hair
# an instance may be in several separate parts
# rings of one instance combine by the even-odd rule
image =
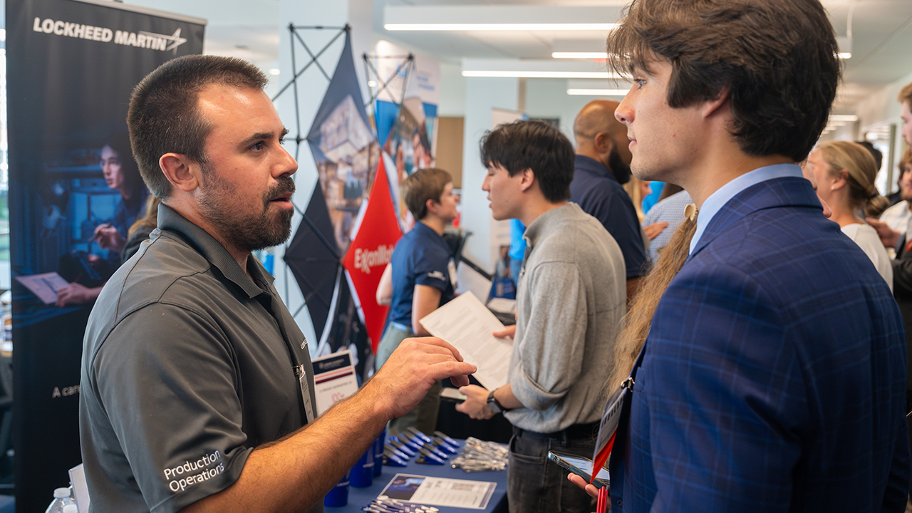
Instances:
[[[818,0],[634,0],[608,36],[633,173],[700,211],[617,433],[614,513],[906,507],[902,319],[795,163],[837,49]]]

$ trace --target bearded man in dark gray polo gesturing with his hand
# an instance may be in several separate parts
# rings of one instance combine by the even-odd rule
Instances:
[[[442,340],[406,340],[315,421],[307,341],[250,257],[289,235],[297,169],[265,83],[244,61],[190,56],[133,92],[130,140],[163,203],[88,321],[79,424],[94,511],[321,510],[391,418],[475,370]]]

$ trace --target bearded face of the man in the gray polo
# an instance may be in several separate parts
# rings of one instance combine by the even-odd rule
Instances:
[[[291,233],[297,163],[282,147],[272,101],[260,89],[214,85],[199,102],[212,131],[197,203],[212,235],[242,251],[281,244]]]

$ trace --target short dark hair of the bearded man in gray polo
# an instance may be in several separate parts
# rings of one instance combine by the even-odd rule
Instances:
[[[171,183],[159,168],[161,155],[186,155],[207,163],[203,141],[212,131],[198,107],[200,91],[211,84],[264,89],[268,79],[239,58],[192,55],[171,59],[142,79],[130,97],[127,126],[142,180],[152,194],[166,199]]]

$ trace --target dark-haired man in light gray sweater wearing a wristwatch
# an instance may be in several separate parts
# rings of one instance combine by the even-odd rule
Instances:
[[[590,499],[559,466],[555,450],[591,456],[606,401],[614,343],[625,311],[624,257],[605,227],[569,203],[574,149],[541,121],[501,125],[482,139],[482,189],[494,219],[526,225],[510,382],[460,389],[457,409],[513,424],[507,497],[510,511],[588,513]]]

